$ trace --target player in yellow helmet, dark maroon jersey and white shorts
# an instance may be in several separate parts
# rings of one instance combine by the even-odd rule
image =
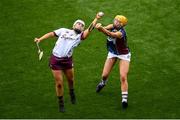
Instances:
[[[119,72],[121,80],[122,92],[122,108],[128,107],[128,82],[127,75],[129,71],[131,53],[127,45],[127,36],[124,26],[127,24],[127,18],[123,15],[117,15],[114,18],[113,24],[103,27],[101,23],[96,25],[96,28],[107,35],[108,55],[104,65],[102,80],[97,85],[96,92],[100,92],[106,85],[108,76],[119,59]]]

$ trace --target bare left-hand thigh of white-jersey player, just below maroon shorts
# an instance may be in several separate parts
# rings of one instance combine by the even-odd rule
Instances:
[[[62,70],[52,70],[52,74],[57,82],[63,81],[63,72]]]

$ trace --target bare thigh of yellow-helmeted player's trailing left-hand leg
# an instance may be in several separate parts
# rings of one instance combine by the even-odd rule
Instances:
[[[108,75],[112,70],[117,58],[107,58],[103,68],[103,75]]]

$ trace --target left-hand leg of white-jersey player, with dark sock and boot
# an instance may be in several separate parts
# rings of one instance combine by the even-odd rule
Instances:
[[[55,78],[56,94],[59,102],[60,112],[64,112],[64,86],[63,86],[63,73],[62,70],[52,70]]]

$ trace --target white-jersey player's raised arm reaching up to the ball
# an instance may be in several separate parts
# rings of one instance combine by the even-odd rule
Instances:
[[[100,12],[99,12],[100,13]],[[92,21],[92,23],[89,25],[89,27],[84,31],[83,33],[83,36],[82,36],[82,39],[86,39],[90,32],[94,29],[94,27],[96,26],[97,24],[97,21],[104,15],[104,14],[99,14],[97,13],[96,14],[96,17],[94,18],[94,20]]]

